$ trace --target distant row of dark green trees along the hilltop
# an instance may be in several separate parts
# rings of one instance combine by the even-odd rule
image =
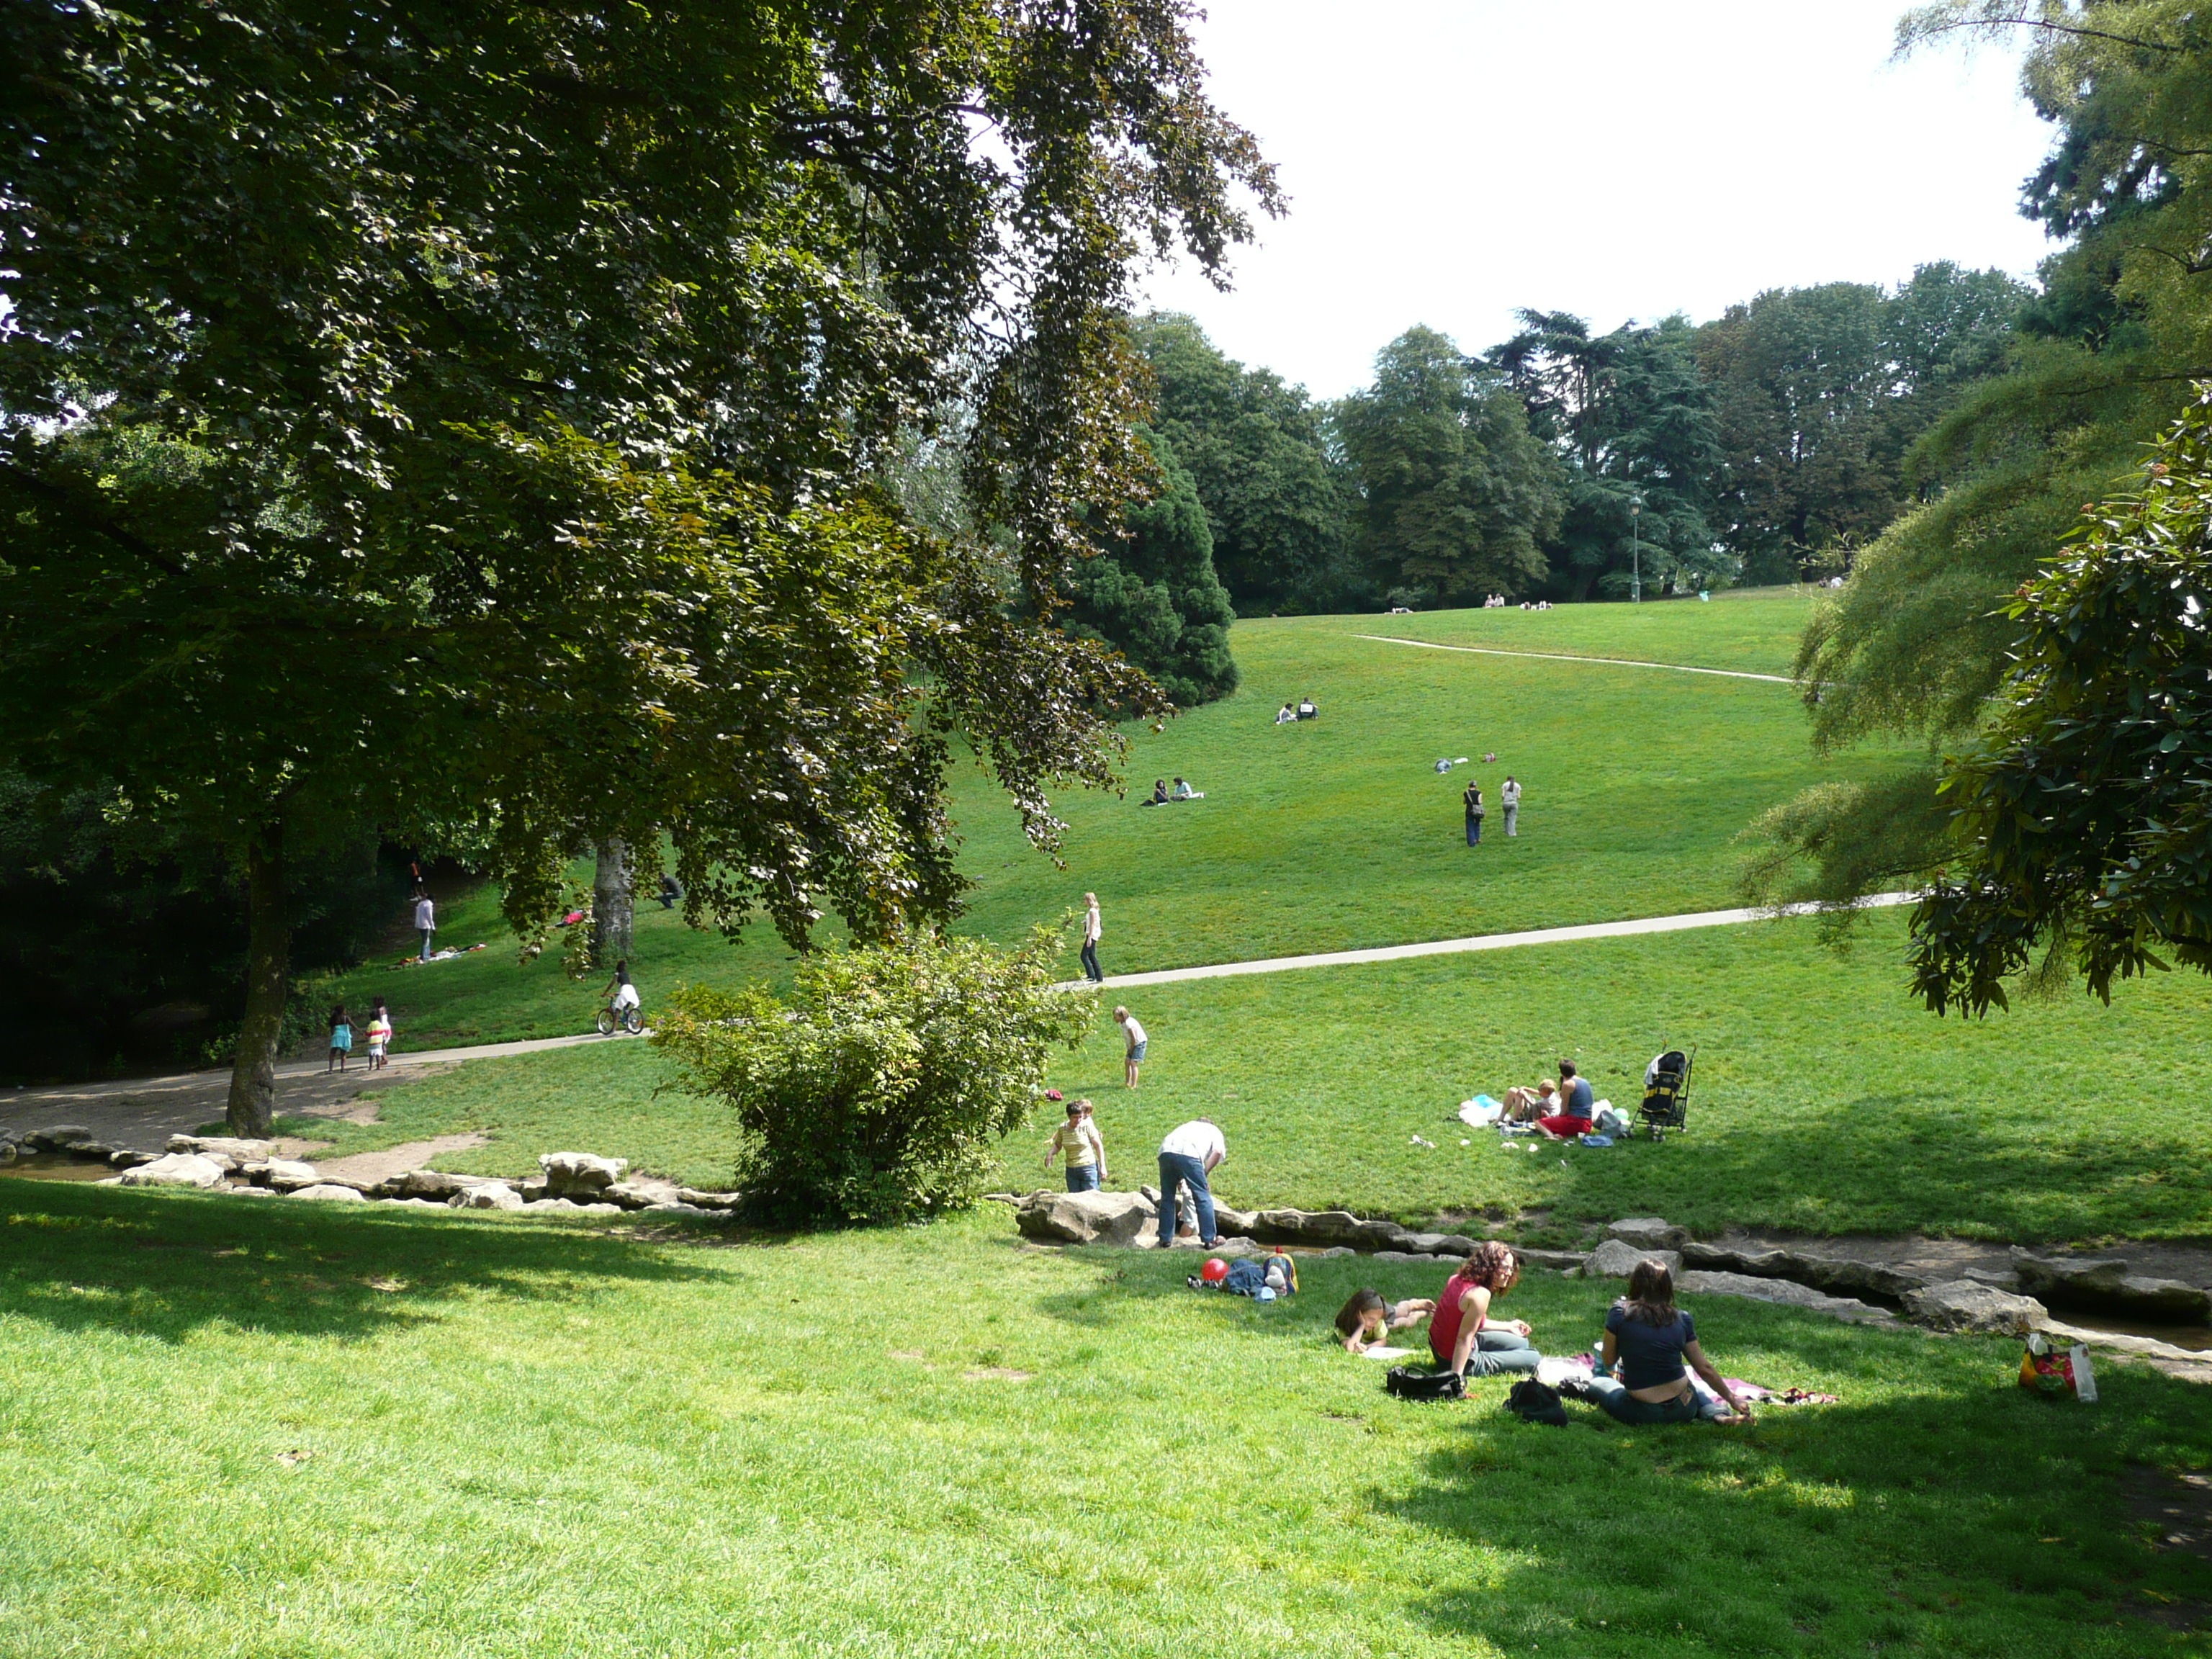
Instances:
[[[2033,301],[2000,270],[1936,263],[1896,290],[1770,290],[1703,325],[1590,334],[1526,310],[1473,356],[1407,330],[1338,403],[1230,361],[1188,316],[1130,327],[1159,383],[1164,500],[1203,507],[1219,584],[1183,586],[1210,641],[1214,593],[1250,617],[1626,597],[1637,560],[1646,593],[1840,571],[1942,489],[1916,438],[2004,372]],[[1124,613],[1097,622],[1155,666]],[[1179,677],[1179,699],[1203,690]]]

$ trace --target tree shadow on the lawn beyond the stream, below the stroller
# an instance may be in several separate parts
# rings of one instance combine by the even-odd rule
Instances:
[[[2130,1141],[2084,1117],[2046,1126],[1982,1121],[1907,1095],[1858,1095],[1750,1128],[1661,1144],[1568,1148],[1557,1208],[1610,1219],[1663,1214],[1712,1230],[1951,1232],[2011,1243],[2101,1234],[2201,1234],[2212,1172],[2179,1137]]]

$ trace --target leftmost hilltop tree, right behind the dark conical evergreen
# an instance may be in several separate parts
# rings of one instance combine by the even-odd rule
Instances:
[[[1172,312],[1130,325],[1157,385],[1152,427],[1190,471],[1214,568],[1239,615],[1323,611],[1345,599],[1352,487],[1305,387],[1223,356]]]

